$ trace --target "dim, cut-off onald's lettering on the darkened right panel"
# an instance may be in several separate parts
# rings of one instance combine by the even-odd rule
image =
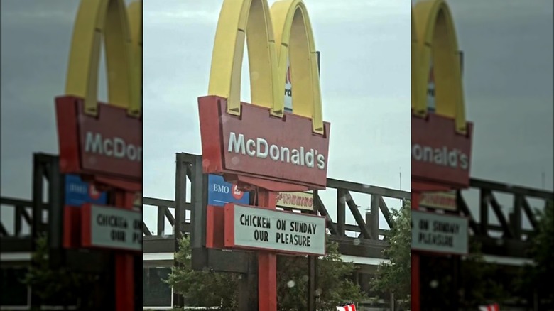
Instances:
[[[415,143],[412,146],[412,158],[417,161],[434,163],[450,168],[461,168],[462,170],[469,168],[468,155],[458,149],[450,149],[447,146],[434,148]]]

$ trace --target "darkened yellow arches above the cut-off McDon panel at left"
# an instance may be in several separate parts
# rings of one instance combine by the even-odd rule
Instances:
[[[141,25],[141,9],[131,4],[134,27]],[[135,9],[133,9],[135,7]],[[136,29],[135,43],[139,43]],[[106,51],[108,101],[126,108],[130,116],[141,116],[140,89],[136,72],[141,62],[133,48],[127,10],[123,0],[82,0],[77,12],[67,67],[65,93],[85,99],[85,113],[97,115],[98,65],[102,35]],[[137,67],[139,66],[139,67]]]

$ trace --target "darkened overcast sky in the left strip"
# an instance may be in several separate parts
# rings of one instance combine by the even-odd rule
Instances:
[[[58,154],[54,98],[65,75],[80,1],[1,1],[1,195],[31,199],[33,153]],[[131,1],[126,0],[129,4]],[[107,101],[104,55],[99,100]],[[12,209],[2,223],[13,230]],[[5,220],[4,220],[5,219]],[[26,231],[26,227],[23,227]]]

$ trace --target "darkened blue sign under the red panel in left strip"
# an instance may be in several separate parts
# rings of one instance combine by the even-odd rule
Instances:
[[[65,175],[65,204],[80,207],[85,203],[107,204],[107,194],[82,181],[79,175]]]

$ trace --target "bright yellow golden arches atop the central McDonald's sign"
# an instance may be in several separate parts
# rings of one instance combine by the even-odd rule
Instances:
[[[240,115],[244,40],[248,47],[250,92],[254,104],[283,116],[286,60],[290,55],[293,113],[312,119],[323,133],[317,53],[302,0],[224,0],[215,34],[209,95],[225,97],[227,112]]]

